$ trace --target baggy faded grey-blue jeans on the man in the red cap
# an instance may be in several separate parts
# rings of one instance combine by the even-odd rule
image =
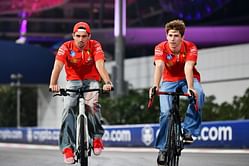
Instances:
[[[67,89],[96,89],[99,83],[95,80],[67,81]],[[78,106],[78,95],[69,92],[70,96],[64,97],[64,110],[62,114],[62,124],[60,129],[59,147],[61,151],[64,148],[75,148],[76,144],[76,117]],[[102,137],[104,129],[101,124],[101,106],[98,103],[98,92],[87,92],[84,94],[85,109],[88,117],[89,135],[92,138]]]

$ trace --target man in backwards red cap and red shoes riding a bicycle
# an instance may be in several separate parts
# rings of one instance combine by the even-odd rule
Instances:
[[[90,39],[91,29],[89,25],[85,22],[75,24],[72,37],[73,40],[63,43],[56,54],[49,88],[53,92],[59,92],[60,87],[57,81],[63,66],[65,66],[67,89],[99,88],[99,82],[102,78],[104,81],[103,90],[111,91],[113,85],[104,65],[104,52],[98,41]],[[102,152],[103,142],[101,138],[104,134],[98,97],[97,92],[85,94],[89,127],[93,129],[93,132],[89,134],[93,137],[93,152],[95,155]],[[77,99],[78,96],[73,92],[64,99],[59,147],[64,154],[64,162],[67,164],[74,163],[76,116],[73,108],[77,106]]]

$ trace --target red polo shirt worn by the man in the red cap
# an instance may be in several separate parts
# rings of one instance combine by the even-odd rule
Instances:
[[[105,60],[105,57],[100,43],[96,40],[89,40],[83,51],[76,47],[73,40],[67,41],[59,48],[56,59],[65,64],[67,80],[101,79],[95,62]]]

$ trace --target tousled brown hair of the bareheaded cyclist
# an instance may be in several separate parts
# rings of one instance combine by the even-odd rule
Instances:
[[[168,33],[169,30],[178,30],[181,36],[185,33],[185,23],[182,20],[172,20],[165,24],[165,30]]]

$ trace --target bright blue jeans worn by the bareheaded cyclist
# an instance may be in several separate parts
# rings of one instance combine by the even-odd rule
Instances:
[[[186,80],[181,80],[177,82],[162,82],[160,91],[174,92],[176,88],[181,85],[182,91],[187,93],[188,87]],[[194,88],[198,93],[198,108],[196,111],[193,103],[189,103],[184,121],[182,123],[183,131],[190,133],[194,136],[199,136],[201,128],[201,115],[202,107],[204,105],[204,92],[201,87],[201,84],[197,79],[194,79]],[[159,133],[156,138],[155,148],[160,149],[161,151],[167,150],[166,140],[167,140],[167,126],[170,110],[172,109],[172,96],[169,95],[160,95],[160,119],[159,119]]]

